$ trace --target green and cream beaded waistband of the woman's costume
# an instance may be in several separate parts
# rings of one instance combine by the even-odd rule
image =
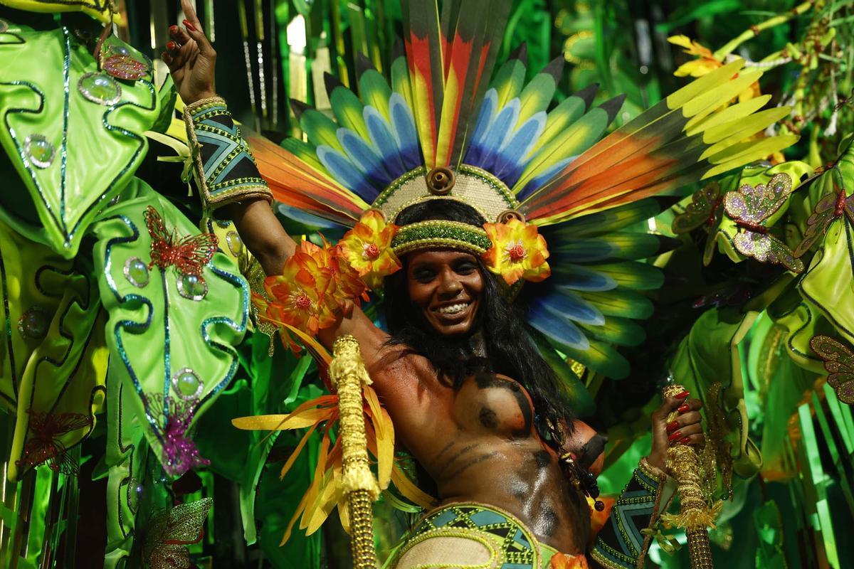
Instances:
[[[447,504],[418,522],[395,569],[588,569],[584,555],[560,554],[537,542],[515,516],[486,504]]]

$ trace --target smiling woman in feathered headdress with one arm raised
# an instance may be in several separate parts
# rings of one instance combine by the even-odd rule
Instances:
[[[242,177],[218,182],[231,168],[225,142],[236,148],[246,142],[215,96],[216,53],[184,0],[188,20],[170,28],[173,42],[163,59],[188,105],[203,205],[233,220],[269,276],[257,297],[262,319],[287,324],[284,334],[295,328],[317,334],[327,347],[343,335],[358,340],[397,440],[438,499],[398,551],[397,567],[638,566],[649,541],[641,531],[658,515],[669,445],[704,442],[701,404],[683,392],[652,414],[652,451],[589,545],[585,494],[598,493],[590,472],[604,441],[577,420],[572,387],[553,371],[551,345],[591,367],[605,366],[619,357],[605,348],[589,355],[609,340],[597,327],[611,322],[628,329],[629,318],[643,316],[605,307],[609,292],[601,291],[628,298],[617,290],[621,277],[603,277],[610,288],[589,284],[603,273],[582,268],[570,241],[605,242],[596,239],[649,217],[633,213],[641,198],[753,160],[749,142],[739,153],[716,153],[752,136],[717,127],[755,107],[716,113],[758,72],[736,78],[738,65],[725,68],[649,112],[669,126],[649,127],[652,115],[642,115],[640,124],[593,145],[622,99],[590,108],[594,90],[585,90],[546,113],[559,66],[523,88],[519,54],[488,89],[509,3],[478,3],[484,5],[470,13],[468,2],[465,9],[448,2],[441,22],[432,0],[406,4],[407,59],[395,61],[390,87],[367,69],[360,101],[330,78],[337,123],[295,106],[308,143],[278,148],[250,141],[271,194],[257,183],[244,189]],[[717,128],[716,135],[703,138],[705,128]],[[690,144],[674,144],[696,132]],[[251,160],[234,167],[258,177]],[[273,196],[355,227],[337,247],[298,244],[273,214]],[[622,208],[614,210],[622,215],[595,223],[582,217],[609,208]],[[579,219],[588,225],[575,224]],[[555,230],[538,234],[547,225]],[[544,235],[558,246],[549,262]],[[520,293],[523,281],[539,283],[550,272],[556,285]],[[349,278],[356,273],[365,284]],[[383,291],[384,329],[360,308],[365,285]],[[600,296],[586,295],[590,290]],[[549,304],[558,293],[563,304]],[[678,418],[668,423],[674,410]]]

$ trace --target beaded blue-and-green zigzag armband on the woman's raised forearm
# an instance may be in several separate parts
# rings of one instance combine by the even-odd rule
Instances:
[[[221,97],[184,108],[196,184],[206,210],[249,197],[272,201],[240,128]]]

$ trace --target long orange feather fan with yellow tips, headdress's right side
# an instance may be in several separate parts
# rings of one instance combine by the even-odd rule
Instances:
[[[528,195],[520,209],[535,224],[556,224],[656,195],[786,148],[796,136],[752,137],[787,114],[724,107],[759,71],[734,61],[687,84],[605,136]]]

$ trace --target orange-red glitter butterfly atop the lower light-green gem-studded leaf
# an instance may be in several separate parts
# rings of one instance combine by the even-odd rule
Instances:
[[[145,210],[145,224],[151,235],[151,263],[161,269],[174,265],[182,275],[194,275],[202,279],[202,269],[216,253],[217,241],[213,233],[186,235],[178,239],[178,230],[171,232],[166,229],[160,213],[149,206]]]

